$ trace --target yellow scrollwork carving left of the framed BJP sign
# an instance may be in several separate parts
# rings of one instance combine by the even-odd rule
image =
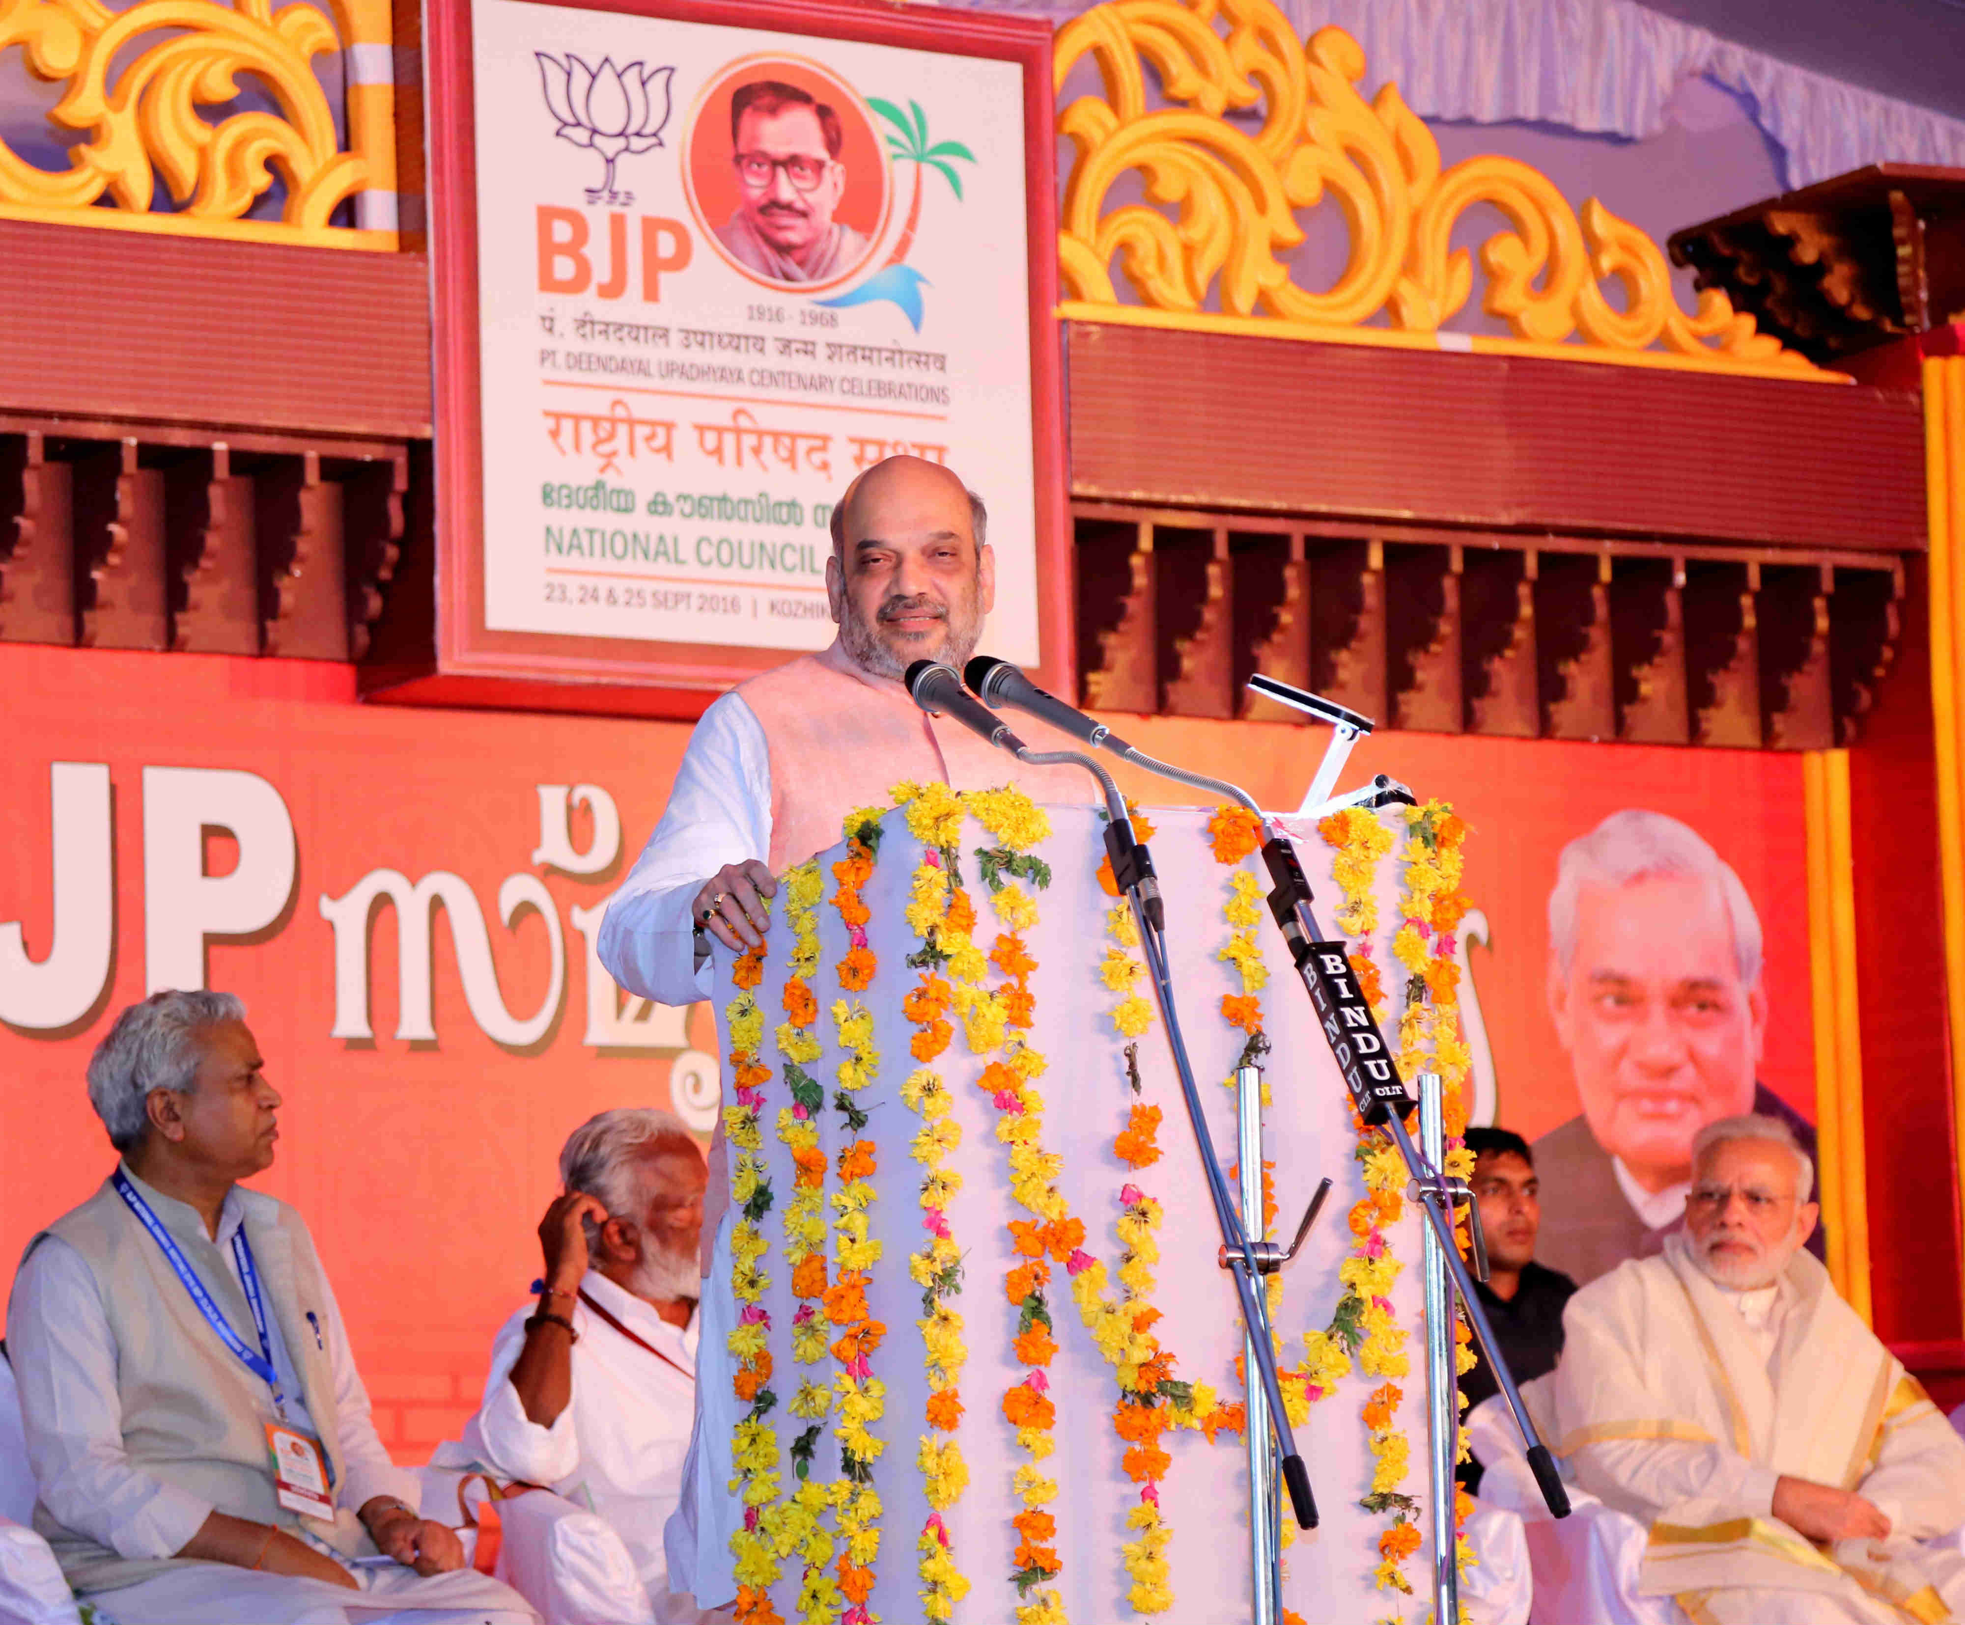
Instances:
[[[332,22],[307,0],[279,10],[138,0],[122,12],[100,0],[0,0],[0,55],[20,47],[35,79],[65,86],[49,120],[88,136],[65,171],[37,169],[0,141],[0,216],[393,250],[393,88],[364,83],[352,49],[379,47],[385,63],[389,37],[387,0],[336,0]],[[346,147],[312,67],[330,51],[348,51]],[[242,81],[279,112],[206,122],[200,108],[230,102]],[[287,189],[281,218],[244,218],[275,173]],[[151,208],[159,175],[175,212]],[[385,228],[328,224],[358,195]]]

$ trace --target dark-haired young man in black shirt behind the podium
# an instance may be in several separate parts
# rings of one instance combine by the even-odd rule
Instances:
[[[1556,1368],[1562,1305],[1576,1283],[1535,1261],[1543,1206],[1529,1142],[1505,1128],[1470,1128],[1468,1149],[1474,1153],[1474,1199],[1488,1238],[1488,1281],[1476,1281],[1474,1291],[1501,1342],[1507,1370],[1517,1383],[1525,1383]],[[1499,1387],[1486,1358],[1460,1377],[1470,1409]],[[1460,1464],[1460,1484],[1468,1493],[1480,1489],[1480,1462]]]

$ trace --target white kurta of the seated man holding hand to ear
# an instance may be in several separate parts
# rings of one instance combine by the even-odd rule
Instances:
[[[499,1478],[546,1485],[605,1519],[635,1560],[656,1617],[666,1617],[662,1525],[682,1495],[700,1324],[692,1318],[688,1330],[678,1330],[595,1269],[580,1289],[674,1364],[637,1348],[576,1303],[572,1320],[580,1342],[574,1344],[572,1397],[552,1427],[540,1427],[525,1415],[511,1385],[511,1368],[525,1348],[525,1320],[533,1313],[527,1305],[491,1344],[491,1375],[483,1405],[464,1429],[464,1454]]]

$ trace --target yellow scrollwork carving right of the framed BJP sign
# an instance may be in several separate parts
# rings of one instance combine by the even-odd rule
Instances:
[[[1757,332],[1723,293],[1702,293],[1686,314],[1662,250],[1596,198],[1578,212],[1509,157],[1442,171],[1397,86],[1358,94],[1364,51],[1340,28],[1303,45],[1271,0],[1106,0],[1059,29],[1059,94],[1087,59],[1104,94],[1077,96],[1057,120],[1075,147],[1059,230],[1065,316],[1839,379]],[[1148,67],[1165,106],[1150,106]],[[1248,108],[1262,110],[1260,128],[1226,116]],[[1148,202],[1108,206],[1128,173]],[[1279,255],[1305,240],[1299,210],[1326,200],[1350,255],[1319,293]],[[1440,332],[1474,291],[1472,257],[1450,244],[1474,204],[1507,220],[1480,250],[1482,308],[1513,338]],[[1140,305],[1120,303],[1114,259]],[[1613,283],[1621,308],[1605,297]],[[1205,308],[1210,293],[1218,310]],[[1368,326],[1379,314],[1385,324]]]

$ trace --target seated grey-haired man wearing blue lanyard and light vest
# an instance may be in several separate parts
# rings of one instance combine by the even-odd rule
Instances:
[[[533,1625],[417,1515],[307,1224],[238,1183],[279,1110],[244,1018],[159,992],[88,1061],[122,1161],[28,1244],[8,1307],[33,1527],[118,1625]]]

